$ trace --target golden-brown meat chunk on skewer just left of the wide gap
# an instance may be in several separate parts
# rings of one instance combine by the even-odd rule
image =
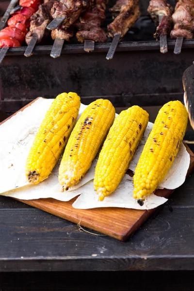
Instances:
[[[109,36],[114,37],[115,33],[121,33],[122,38],[139,16],[139,5],[131,7],[131,0],[129,0],[128,5],[122,6],[120,14],[108,25]]]

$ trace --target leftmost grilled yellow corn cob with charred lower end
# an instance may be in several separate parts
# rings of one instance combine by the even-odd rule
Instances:
[[[80,97],[72,92],[62,93],[52,102],[27,158],[26,177],[30,183],[49,177],[75,125],[80,105]]]

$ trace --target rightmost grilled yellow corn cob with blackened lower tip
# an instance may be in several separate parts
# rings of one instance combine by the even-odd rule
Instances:
[[[144,200],[162,182],[178,153],[187,120],[180,101],[170,101],[161,108],[135,169],[134,198]]]

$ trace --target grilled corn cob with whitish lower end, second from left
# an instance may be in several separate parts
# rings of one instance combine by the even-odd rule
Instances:
[[[81,114],[65,148],[59,167],[62,191],[76,185],[91,167],[113,124],[115,109],[109,100],[92,102]]]

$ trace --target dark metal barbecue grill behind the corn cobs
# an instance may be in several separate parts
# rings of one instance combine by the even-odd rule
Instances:
[[[156,28],[146,12],[148,3],[140,0],[141,17],[110,61],[106,54],[111,39],[86,53],[74,38],[56,59],[49,56],[51,38],[37,45],[29,58],[24,57],[26,47],[10,48],[0,67],[1,109],[10,114],[35,97],[53,98],[64,91],[78,92],[85,104],[106,97],[116,107],[183,101],[182,74],[192,64],[194,40],[184,40],[182,52],[175,55],[175,40],[168,39],[168,52],[160,53],[160,42],[153,38]],[[110,1],[109,7],[113,4]],[[110,22],[107,12],[104,27]]]

